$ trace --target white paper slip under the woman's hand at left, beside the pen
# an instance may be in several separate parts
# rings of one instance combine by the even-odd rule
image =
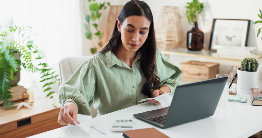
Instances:
[[[88,136],[92,116],[77,114],[77,120],[80,124],[66,126],[67,132],[69,132],[73,137],[86,137]]]

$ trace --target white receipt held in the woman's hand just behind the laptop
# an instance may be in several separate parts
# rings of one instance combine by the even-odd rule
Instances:
[[[172,101],[171,96],[170,96],[169,94],[170,94],[170,93],[164,93],[164,94],[159,95],[159,96],[157,96],[157,97],[155,97],[155,98],[142,99],[142,100],[139,101],[139,102],[155,99],[155,100],[157,100],[158,102],[160,102],[160,104],[162,105],[162,108],[165,108],[165,107],[170,106],[171,101]]]

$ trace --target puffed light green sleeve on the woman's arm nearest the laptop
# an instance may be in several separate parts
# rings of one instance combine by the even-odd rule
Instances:
[[[158,76],[160,77],[159,88],[166,85],[170,88],[171,93],[174,93],[182,78],[182,71],[172,64],[159,49],[157,49],[156,65]]]

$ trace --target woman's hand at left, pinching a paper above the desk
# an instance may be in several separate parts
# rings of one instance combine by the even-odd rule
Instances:
[[[77,112],[78,108],[74,102],[67,101],[64,106],[60,109],[58,116],[58,123],[62,125],[72,124],[75,125],[74,120],[77,124],[80,122],[77,121]]]

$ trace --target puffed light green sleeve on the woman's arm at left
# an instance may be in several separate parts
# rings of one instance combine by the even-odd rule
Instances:
[[[96,78],[90,67],[90,60],[85,61],[59,89],[59,102],[62,106],[67,101],[74,102],[79,114],[92,115],[90,106],[94,103]]]

